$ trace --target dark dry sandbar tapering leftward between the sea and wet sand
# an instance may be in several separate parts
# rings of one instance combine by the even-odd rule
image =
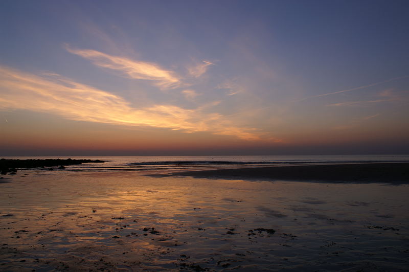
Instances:
[[[288,165],[216,169],[172,173],[229,179],[303,180],[316,182],[409,183],[409,163],[361,163],[332,165]]]

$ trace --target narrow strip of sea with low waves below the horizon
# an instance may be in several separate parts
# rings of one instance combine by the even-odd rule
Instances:
[[[102,160],[105,163],[88,163],[66,166],[60,171],[144,171],[188,170],[190,168],[222,168],[237,166],[268,166],[312,163],[368,163],[407,162],[409,155],[276,155],[276,156],[5,156],[4,158],[73,158]],[[41,170],[41,169],[38,169]]]

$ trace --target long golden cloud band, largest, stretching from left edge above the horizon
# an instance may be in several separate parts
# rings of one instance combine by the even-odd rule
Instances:
[[[175,105],[134,108],[123,98],[61,76],[36,76],[0,66],[0,109],[48,112],[69,120],[128,126],[151,126],[183,132],[207,131],[258,140],[262,133],[239,127],[205,105],[185,109]]]

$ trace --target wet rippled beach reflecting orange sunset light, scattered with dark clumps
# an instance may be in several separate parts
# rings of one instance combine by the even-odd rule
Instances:
[[[18,170],[0,183],[0,269],[407,269],[407,184],[268,174],[299,167]]]

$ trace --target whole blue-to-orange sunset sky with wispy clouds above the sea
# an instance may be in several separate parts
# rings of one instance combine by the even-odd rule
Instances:
[[[408,1],[1,1],[0,156],[409,153]]]

